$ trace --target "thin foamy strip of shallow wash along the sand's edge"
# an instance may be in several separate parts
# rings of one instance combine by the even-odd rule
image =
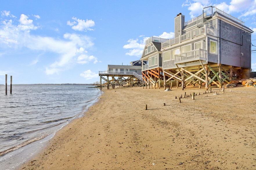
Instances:
[[[87,105],[83,107],[83,111],[81,113],[79,113],[79,114],[77,114],[77,115],[75,115],[73,117],[68,118],[69,120],[67,122],[63,122],[63,123],[61,123],[59,125],[56,125],[56,128],[60,127],[60,128],[57,128],[56,131],[54,131],[54,132],[44,136],[43,138],[31,141],[31,140],[34,139],[34,138],[32,138],[32,139],[30,139],[28,141],[25,141],[24,143],[21,143],[21,144],[19,144],[17,146],[14,146],[14,147],[10,148],[10,149],[7,149],[6,151],[2,151],[2,152],[6,152],[6,153],[4,153],[4,154],[2,154],[0,156],[1,157],[1,163],[3,163],[2,167],[0,169],[2,169],[4,167],[5,167],[5,169],[9,168],[10,165],[13,166],[11,169],[17,169],[17,168],[20,168],[22,166],[22,164],[27,162],[26,159],[28,159],[28,160],[31,159],[32,160],[34,156],[28,156],[27,158],[26,157],[24,158],[24,156],[28,155],[28,154],[31,154],[31,155],[35,154],[35,155],[37,155],[41,150],[43,150],[48,145],[48,140],[53,138],[58,131],[62,130],[62,128],[64,128],[69,123],[72,123],[75,119],[79,119],[79,118],[83,117],[84,114],[86,114],[86,111],[91,106],[93,106],[94,104],[96,104],[98,102],[98,100],[101,97],[102,93],[103,92],[100,92],[98,97],[96,97],[95,99],[87,101],[86,102]],[[42,143],[44,143],[44,144],[42,144]],[[35,148],[37,148],[37,150]],[[19,152],[24,151],[24,149],[25,149],[25,152],[26,152],[25,155],[24,154],[19,154]],[[29,150],[29,151],[31,151],[33,153],[28,153],[28,151],[26,151],[26,150]],[[18,164],[11,164],[12,162],[5,162],[6,159],[7,160],[15,159],[15,158],[13,158],[12,155],[15,155],[15,157],[17,157],[17,155],[18,155],[18,157],[23,157],[22,159],[23,160],[25,159],[25,161],[19,162]],[[19,159],[19,160],[21,160],[21,159]],[[15,161],[17,161],[17,160],[15,160]]]

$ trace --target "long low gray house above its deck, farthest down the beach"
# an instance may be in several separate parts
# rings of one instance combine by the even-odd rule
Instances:
[[[141,75],[141,66],[108,65],[108,71],[113,71],[117,73],[124,72],[125,74],[127,72],[135,72]]]

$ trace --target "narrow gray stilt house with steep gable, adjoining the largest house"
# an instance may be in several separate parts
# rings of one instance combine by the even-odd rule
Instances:
[[[161,43],[168,39],[151,37],[145,41],[145,47],[140,60],[142,60],[143,88],[144,82],[149,88],[163,86],[162,51]],[[145,61],[147,64],[145,64]]]

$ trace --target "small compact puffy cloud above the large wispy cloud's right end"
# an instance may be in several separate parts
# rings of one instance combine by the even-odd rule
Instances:
[[[77,22],[67,21],[67,25],[72,26],[72,29],[74,29],[76,31],[87,31],[87,30],[91,31],[93,29],[90,28],[90,27],[95,26],[95,23],[92,20],[86,19],[86,21],[85,21],[85,20],[82,20],[82,19],[77,19],[76,17],[72,17],[72,19],[77,21]],[[77,25],[75,25],[76,23],[77,23]]]

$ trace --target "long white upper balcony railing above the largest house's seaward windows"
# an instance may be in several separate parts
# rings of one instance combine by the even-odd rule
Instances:
[[[217,36],[217,29],[213,29],[213,28],[207,27],[205,25],[204,27],[195,29],[195,30],[190,31],[186,34],[183,34],[179,37],[176,37],[176,38],[170,39],[166,42],[163,42],[162,43],[162,49],[167,48],[167,47],[171,47],[172,45],[182,43],[183,41],[190,40],[190,39],[193,39],[193,38],[196,38],[198,36],[205,35],[205,34],[208,34],[208,35],[211,35],[211,36]]]

